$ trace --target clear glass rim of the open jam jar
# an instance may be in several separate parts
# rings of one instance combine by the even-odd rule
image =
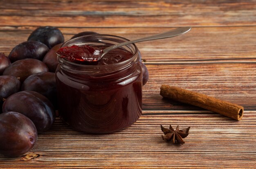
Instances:
[[[64,47],[65,46],[65,44],[68,44],[69,42],[72,42],[72,41],[75,41],[75,40],[78,40],[78,39],[82,39],[82,38],[84,38],[84,37],[91,37],[91,36],[99,36],[99,37],[103,37],[103,36],[105,36],[105,37],[107,37],[107,36],[109,36],[109,37],[117,37],[117,38],[119,38],[119,39],[122,39],[122,40],[125,40],[126,42],[127,41],[130,41],[130,40],[128,40],[128,39],[126,39],[126,38],[124,38],[124,37],[121,37],[121,36],[117,36],[117,35],[109,35],[109,34],[93,34],[93,35],[85,35],[85,36],[80,36],[80,37],[76,37],[76,38],[74,38],[74,39],[70,39],[70,40],[67,40],[66,42],[64,42],[61,46],[60,46],[60,48],[62,48],[62,47]],[[85,41],[86,42],[86,41]],[[74,43],[75,44],[75,43]],[[74,45],[74,44],[71,44],[71,45]],[[132,45],[132,46],[134,46],[134,48],[135,48],[135,52],[134,53],[132,53],[132,57],[130,58],[130,59],[127,59],[127,60],[125,60],[125,61],[121,61],[121,62],[119,62],[119,63],[115,63],[115,64],[109,64],[109,65],[84,65],[84,64],[76,64],[76,63],[74,63],[74,62],[71,62],[71,61],[68,61],[68,60],[66,60],[66,59],[64,59],[64,58],[61,58],[60,57],[60,55],[58,55],[57,54],[57,58],[58,58],[58,62],[60,63],[60,64],[71,64],[71,65],[73,65],[73,66],[79,66],[79,67],[81,67],[81,68],[105,68],[105,67],[110,67],[110,66],[120,66],[120,65],[122,65],[122,64],[127,64],[127,63],[129,63],[129,62],[131,62],[132,60],[134,60],[135,59],[135,57],[137,57],[138,56],[138,47],[134,44],[134,43],[132,43],[132,44],[128,44],[128,45]],[[127,46],[127,45],[124,45],[124,46]]]

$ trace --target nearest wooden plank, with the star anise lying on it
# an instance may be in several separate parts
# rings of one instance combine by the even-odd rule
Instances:
[[[131,127],[101,135],[76,132],[57,119],[27,155],[0,156],[0,168],[255,168],[256,112],[245,111],[239,122],[219,114],[185,113],[144,111]],[[191,126],[184,145],[162,140],[160,124],[170,123]]]

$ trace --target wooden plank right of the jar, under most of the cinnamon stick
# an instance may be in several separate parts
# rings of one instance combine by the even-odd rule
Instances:
[[[143,110],[200,110],[163,99],[160,86],[168,84],[207,94],[256,110],[256,64],[146,64]],[[202,109],[201,109],[202,110]]]

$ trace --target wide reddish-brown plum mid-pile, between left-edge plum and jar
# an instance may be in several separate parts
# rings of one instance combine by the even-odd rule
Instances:
[[[22,59],[9,65],[4,70],[3,75],[19,77],[20,82],[23,83],[23,81],[30,75],[39,72],[47,72],[48,70],[48,67],[43,61],[37,59]]]

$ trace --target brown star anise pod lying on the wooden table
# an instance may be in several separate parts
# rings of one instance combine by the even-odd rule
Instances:
[[[182,140],[182,138],[186,138],[186,136],[189,135],[190,127],[179,130],[179,126],[177,126],[177,128],[174,130],[171,125],[169,129],[166,129],[161,125],[161,129],[162,129],[162,132],[164,132],[164,135],[162,135],[162,138],[166,142],[184,144],[185,142]]]

